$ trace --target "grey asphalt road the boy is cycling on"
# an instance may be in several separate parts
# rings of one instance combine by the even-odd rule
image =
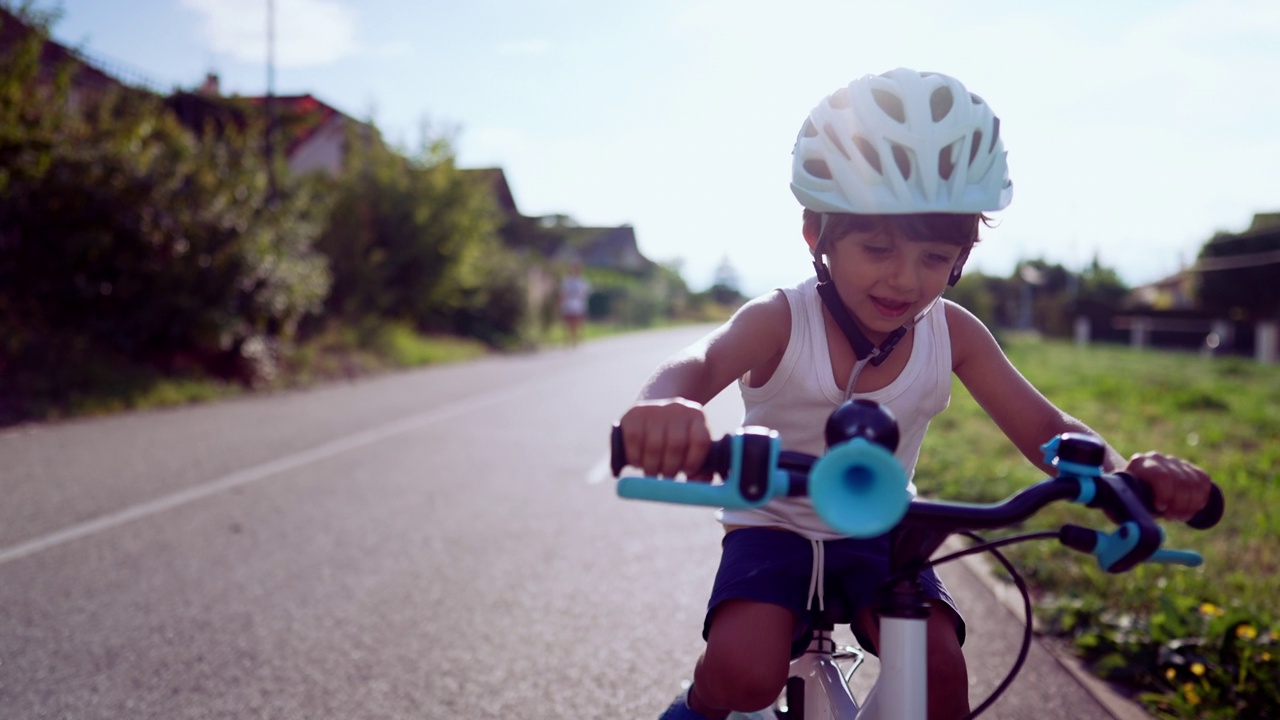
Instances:
[[[0,717],[655,717],[721,532],[605,441],[698,333],[0,433]],[[1019,628],[946,577],[977,702]],[[1107,714],[1037,651],[988,716]]]

